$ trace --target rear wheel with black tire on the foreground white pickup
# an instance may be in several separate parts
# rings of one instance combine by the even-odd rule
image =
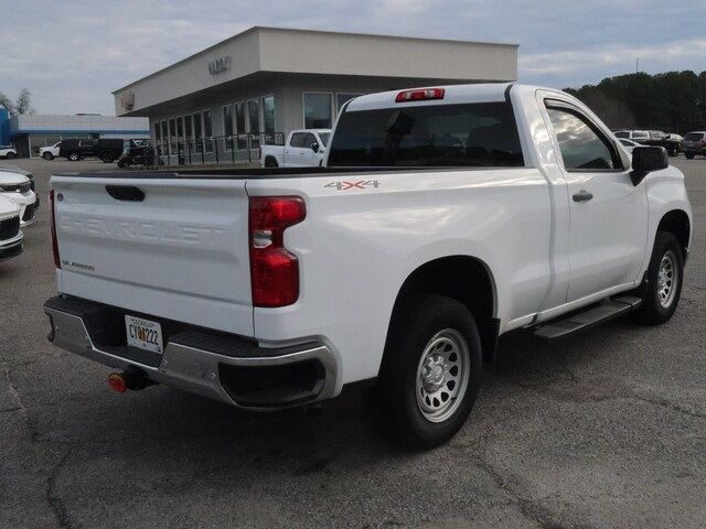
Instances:
[[[473,315],[466,305],[453,299],[441,295],[418,295],[403,300],[402,303],[391,323],[377,395],[385,413],[384,424],[385,428],[391,429],[389,433],[409,447],[431,449],[451,439],[463,425],[473,408],[480,385],[481,341]],[[451,381],[447,382],[448,374],[453,373],[452,367],[447,373],[446,364],[441,366],[439,374],[445,375],[437,379],[440,389],[435,389],[441,393],[425,393],[426,388],[421,377],[422,358],[430,358],[427,352],[437,350],[432,344],[439,345],[439,339],[446,339],[445,333],[451,333],[457,339],[462,341],[468,352],[468,355],[462,352],[457,356],[457,359],[464,358],[463,363],[467,363],[468,367],[463,370],[463,363],[457,364],[459,366],[456,370],[459,377],[457,380],[460,384],[456,398],[450,398],[447,393],[448,401],[442,396],[445,390],[452,392],[456,387],[456,384],[452,387]],[[442,348],[441,354],[445,350],[451,349]],[[449,359],[453,359],[453,353]],[[468,373],[467,378],[463,373]],[[467,384],[463,380],[467,380]],[[429,419],[421,409],[424,402],[420,400],[426,399],[431,406],[430,395],[439,395],[439,400],[434,401],[435,406],[439,402],[441,407],[448,407],[448,415],[439,415],[436,419],[437,422]]]

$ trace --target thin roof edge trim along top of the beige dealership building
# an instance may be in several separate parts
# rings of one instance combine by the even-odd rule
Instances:
[[[205,55],[206,53],[215,50],[218,46],[228,44],[235,41],[236,39],[239,39],[249,33],[259,32],[259,31],[280,31],[280,32],[287,32],[287,33],[314,33],[314,34],[324,34],[324,35],[345,35],[345,36],[373,36],[376,39],[389,39],[389,40],[402,40],[402,41],[439,42],[439,43],[452,43],[452,44],[478,44],[478,45],[486,45],[486,46],[501,46],[501,47],[514,47],[514,48],[520,47],[520,44],[512,44],[506,42],[463,41],[459,39],[435,39],[435,37],[424,37],[424,36],[383,35],[378,33],[357,33],[357,32],[350,32],[350,31],[325,31],[325,30],[307,30],[307,29],[300,29],[300,28],[277,28],[277,26],[270,26],[270,25],[254,25],[252,28],[248,28],[245,31],[242,31],[240,33],[236,33],[235,35],[228,36],[223,41],[216,42],[215,44],[212,44],[208,47],[205,47],[182,60],[179,60],[175,63],[170,64],[169,66],[160,68],[157,72],[152,72],[151,74],[146,75],[145,77],[140,77],[139,79],[128,83],[127,85],[115,89],[111,94],[115,96],[119,91],[130,88],[131,86],[142,83],[143,80],[156,77],[169,69],[175,68],[176,66],[180,66],[191,61],[192,58],[196,58],[201,55]]]

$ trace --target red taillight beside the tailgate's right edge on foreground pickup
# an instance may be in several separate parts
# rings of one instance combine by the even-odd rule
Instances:
[[[299,196],[250,197],[250,282],[255,306],[286,306],[299,299],[299,261],[285,248],[285,229],[307,216]]]

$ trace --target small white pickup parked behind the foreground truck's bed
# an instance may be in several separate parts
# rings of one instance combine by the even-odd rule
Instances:
[[[325,156],[330,129],[292,130],[284,145],[263,145],[263,168],[317,168]]]

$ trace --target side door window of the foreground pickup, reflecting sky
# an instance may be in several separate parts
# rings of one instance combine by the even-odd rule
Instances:
[[[585,116],[550,102],[547,102],[547,112],[567,171],[622,169],[612,143]]]

